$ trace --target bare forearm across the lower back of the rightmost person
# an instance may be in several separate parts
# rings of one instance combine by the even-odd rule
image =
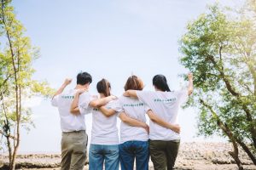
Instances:
[[[161,127],[169,128],[176,133],[180,133],[180,127],[178,125],[162,120],[159,116],[156,116],[152,110],[148,110],[147,114],[152,122],[159,124]]]

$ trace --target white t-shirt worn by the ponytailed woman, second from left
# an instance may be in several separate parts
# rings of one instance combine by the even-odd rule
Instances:
[[[119,144],[119,132],[117,128],[117,114],[107,117],[102,114],[97,108],[90,107],[90,101],[95,98],[84,97],[81,94],[79,97],[79,110],[86,113],[90,111],[92,113],[92,129],[90,144]],[[111,109],[113,101],[110,101],[106,106],[107,109]]]

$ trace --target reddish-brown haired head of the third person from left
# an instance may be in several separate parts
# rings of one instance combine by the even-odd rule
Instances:
[[[144,85],[143,81],[137,76],[131,76],[127,79],[125,83],[125,91],[126,90],[143,90]]]

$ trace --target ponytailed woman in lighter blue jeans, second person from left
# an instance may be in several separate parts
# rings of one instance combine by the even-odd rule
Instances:
[[[102,79],[96,85],[97,91],[101,99],[108,99],[110,96],[110,83],[106,79]],[[98,108],[90,106],[94,97],[88,98],[87,92],[79,91],[79,99],[73,100],[71,112],[78,110],[79,112],[92,112],[92,129],[89,151],[89,169],[102,170],[105,161],[106,170],[119,169],[119,135],[117,123],[117,114],[112,116],[104,116]],[[109,101],[106,105],[107,109],[111,109],[113,101]]]

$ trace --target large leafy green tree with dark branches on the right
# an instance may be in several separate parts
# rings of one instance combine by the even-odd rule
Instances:
[[[256,34],[251,15],[230,13],[218,4],[190,22],[180,41],[181,64],[194,73],[188,105],[199,111],[199,133],[217,133],[238,145],[256,165]]]

